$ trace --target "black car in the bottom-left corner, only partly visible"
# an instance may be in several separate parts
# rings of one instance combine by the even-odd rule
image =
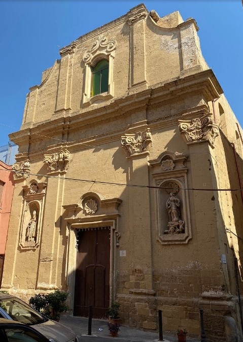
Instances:
[[[1,342],[50,342],[39,331],[16,321],[0,318]]]

